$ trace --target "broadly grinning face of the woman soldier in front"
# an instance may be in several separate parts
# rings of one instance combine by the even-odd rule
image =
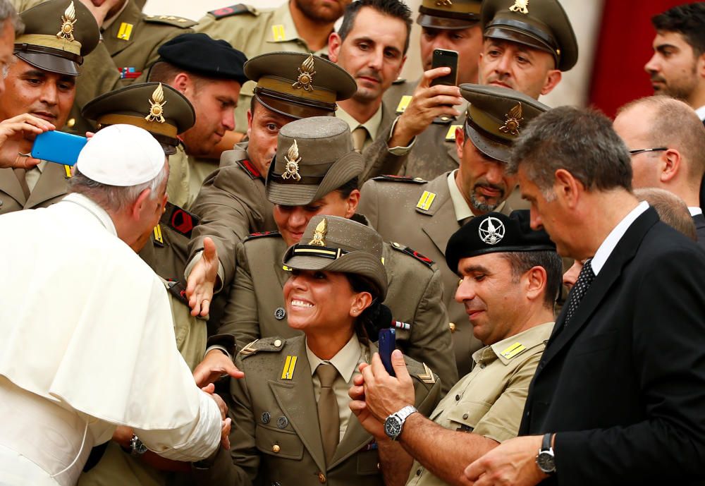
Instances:
[[[355,317],[371,300],[369,293],[353,291],[340,272],[294,269],[284,284],[289,327],[307,335],[349,332],[352,336]]]

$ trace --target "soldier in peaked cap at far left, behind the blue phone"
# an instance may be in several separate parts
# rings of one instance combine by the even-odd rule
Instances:
[[[83,56],[98,44],[98,26],[78,0],[47,1],[20,18],[25,33],[15,41],[16,59],[0,95],[0,118],[29,112],[61,129],[73,104]],[[18,152],[30,152],[33,140],[33,136],[16,140]],[[46,161],[26,171],[0,169],[0,214],[58,202],[66,195],[69,177],[70,166]]]

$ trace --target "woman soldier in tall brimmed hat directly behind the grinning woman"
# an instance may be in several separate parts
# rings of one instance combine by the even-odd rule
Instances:
[[[213,347],[206,361],[223,359],[221,351],[234,353],[235,346],[242,348],[253,339],[298,334],[286,326],[286,306],[278,289],[288,269],[278,262],[288,245],[300,241],[314,214],[352,217],[366,224],[355,215],[361,169],[362,157],[353,151],[350,129],[341,120],[312,117],[280,130],[266,195],[275,205],[281,233],[255,234],[238,244],[235,279],[218,334],[209,339]],[[448,390],[458,374],[448,354],[451,339],[441,274],[433,262],[398,243],[385,243],[383,257],[388,280],[384,304],[398,322],[398,344],[410,357],[427,363]]]

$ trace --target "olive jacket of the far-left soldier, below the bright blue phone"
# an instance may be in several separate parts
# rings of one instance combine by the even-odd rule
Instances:
[[[39,176],[29,198],[20,186],[12,169],[0,169],[0,214],[19,211],[20,209],[35,209],[49,207],[59,202],[66,195],[68,181],[66,166],[47,162]]]

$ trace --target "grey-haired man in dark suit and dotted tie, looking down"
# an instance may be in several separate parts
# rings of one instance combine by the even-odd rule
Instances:
[[[510,170],[532,226],[558,253],[587,261],[529,388],[527,437],[465,476],[478,486],[696,484],[705,478],[705,253],[637,201],[629,152],[594,111],[539,116]]]

